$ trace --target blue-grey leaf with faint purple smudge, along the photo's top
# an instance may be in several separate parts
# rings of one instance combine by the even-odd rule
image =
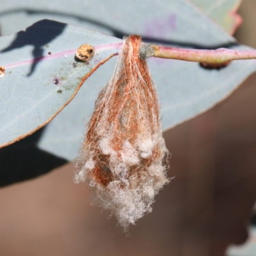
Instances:
[[[54,19],[108,35],[138,34],[189,47],[214,47],[234,42],[189,0],[4,1],[0,0],[3,35],[16,33],[41,19]],[[15,7],[13,7],[15,6]],[[202,33],[211,31],[210,42]],[[189,39],[189,40],[188,40]]]

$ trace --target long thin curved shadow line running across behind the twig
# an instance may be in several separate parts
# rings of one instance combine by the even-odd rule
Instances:
[[[49,11],[49,10],[33,10],[33,9],[28,9],[28,8],[19,8],[19,9],[12,9],[4,12],[0,12],[0,17],[13,14],[13,13],[26,13],[28,15],[55,15],[56,17],[70,17],[79,21],[83,22],[90,22],[91,24],[100,26],[105,29],[109,29],[112,31],[114,36],[117,38],[123,38],[127,33],[125,31],[120,31],[118,29],[115,29],[111,26],[109,26],[106,23],[100,22],[98,20],[93,20],[93,19],[88,19],[86,17],[80,16],[80,15],[75,15],[75,14],[70,14],[70,13],[63,13],[63,12],[55,12],[55,11]],[[44,18],[44,16],[42,17]],[[57,22],[58,23],[58,22]],[[200,44],[193,44],[189,42],[179,42],[175,40],[164,40],[164,39],[159,39],[159,38],[152,38],[152,37],[147,37],[147,36],[142,36],[143,42],[148,42],[148,43],[155,43],[155,44],[164,44],[164,45],[172,45],[172,46],[177,46],[177,47],[184,47],[184,48],[193,48],[193,49],[218,49],[218,48],[230,48],[232,46],[238,45],[236,42],[229,42],[227,44],[221,44],[221,45],[200,45]]]

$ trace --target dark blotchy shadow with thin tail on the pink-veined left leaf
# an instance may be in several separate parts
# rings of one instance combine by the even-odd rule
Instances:
[[[34,61],[28,74],[28,76],[30,76],[34,72],[36,64],[43,58],[45,45],[49,44],[54,38],[59,36],[63,32],[65,26],[67,26],[67,24],[53,20],[40,20],[28,27],[26,31],[18,32],[12,44],[1,52],[8,52],[22,48],[26,45],[33,45],[34,49],[32,54]]]

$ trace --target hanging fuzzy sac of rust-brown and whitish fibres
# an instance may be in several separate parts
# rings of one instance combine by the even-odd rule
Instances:
[[[154,196],[170,182],[158,95],[141,45],[140,36],[124,38],[76,159],[75,182],[86,181],[94,203],[114,214],[124,230],[152,211]]]

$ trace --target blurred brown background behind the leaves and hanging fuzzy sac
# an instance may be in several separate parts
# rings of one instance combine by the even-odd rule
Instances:
[[[255,0],[243,1],[236,37],[256,48],[255,11]],[[246,241],[256,201],[255,99],[253,74],[227,100],[164,133],[175,179],[128,237],[90,205],[72,164],[1,188],[0,255],[225,255]]]

